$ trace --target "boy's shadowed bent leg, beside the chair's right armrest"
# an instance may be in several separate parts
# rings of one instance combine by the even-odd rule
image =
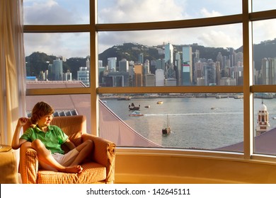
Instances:
[[[91,151],[93,149],[93,141],[90,139],[84,141],[82,144],[76,147],[76,150],[79,151],[78,156],[74,159],[74,161],[71,163],[71,165],[79,165],[81,164],[84,159],[91,155]]]

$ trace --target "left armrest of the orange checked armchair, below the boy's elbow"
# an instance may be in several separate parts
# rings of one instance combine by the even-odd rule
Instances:
[[[26,141],[20,147],[19,173],[23,184],[35,184],[38,175],[38,156],[31,148],[30,142]]]

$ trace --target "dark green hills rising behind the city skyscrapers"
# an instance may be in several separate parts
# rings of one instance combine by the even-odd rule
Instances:
[[[200,51],[200,58],[213,59],[216,61],[217,54],[222,53],[223,56],[229,56],[229,49],[222,47],[204,47],[202,45],[192,44],[192,52],[195,50]],[[182,52],[183,45],[173,45],[175,52]],[[164,54],[159,52],[164,49],[164,45],[158,46],[146,46],[137,43],[124,43],[123,45],[115,45],[108,48],[104,52],[98,55],[98,59],[103,61],[103,66],[108,65],[109,57],[117,57],[117,64],[122,59],[128,61],[137,62],[139,54],[143,53],[144,60],[149,59],[163,59]],[[239,47],[235,52],[242,52],[243,47]],[[260,70],[261,60],[264,57],[276,57],[276,39],[267,40],[260,42],[259,44],[253,45],[253,57],[255,62],[255,69]],[[47,55],[43,52],[34,52],[30,56],[25,57],[27,76],[38,76],[40,71],[45,71],[48,68],[48,64],[52,64],[53,60],[57,57]],[[86,66],[86,58],[72,57],[63,62],[64,73],[69,69],[72,73],[72,78],[76,79],[76,71],[79,70],[80,66]]]

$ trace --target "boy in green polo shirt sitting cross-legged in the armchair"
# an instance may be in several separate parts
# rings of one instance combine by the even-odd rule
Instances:
[[[12,148],[18,149],[25,141],[31,141],[31,146],[38,153],[38,162],[40,167],[45,170],[55,170],[65,173],[81,173],[83,168],[81,162],[86,156],[91,154],[93,141],[84,141],[79,146],[75,146],[67,134],[62,132],[57,126],[50,125],[54,109],[45,102],[37,103],[32,110],[30,121],[32,127],[28,128],[19,138],[21,127],[23,127],[28,118],[18,119],[15,132],[13,134]],[[70,151],[64,154],[61,148],[66,144]]]

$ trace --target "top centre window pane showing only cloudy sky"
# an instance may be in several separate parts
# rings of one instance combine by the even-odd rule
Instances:
[[[98,1],[98,23],[139,23],[241,13],[241,1]]]

